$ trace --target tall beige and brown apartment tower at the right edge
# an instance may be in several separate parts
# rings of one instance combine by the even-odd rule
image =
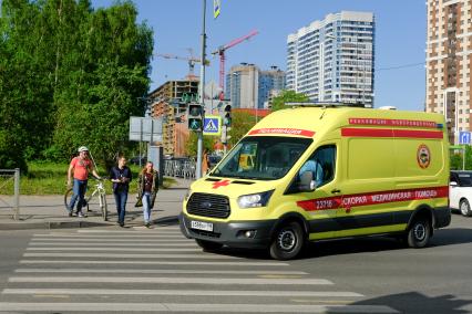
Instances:
[[[428,0],[425,111],[445,115],[450,142],[471,128],[472,0]]]

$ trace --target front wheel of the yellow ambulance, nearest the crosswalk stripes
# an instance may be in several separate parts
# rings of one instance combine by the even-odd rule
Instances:
[[[298,222],[291,221],[277,230],[270,244],[270,257],[275,260],[291,260],[304,247],[304,230]]]

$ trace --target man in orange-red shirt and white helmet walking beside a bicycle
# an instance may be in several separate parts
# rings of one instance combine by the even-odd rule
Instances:
[[[86,192],[89,172],[91,171],[93,176],[100,180],[100,176],[96,172],[92,160],[90,159],[89,148],[86,148],[85,146],[81,146],[79,147],[78,151],[79,151],[79,156],[72,158],[71,164],[69,165],[69,170],[68,170],[68,187],[71,187],[72,174],[74,178],[73,196],[68,206],[69,217],[72,216],[78,198],[79,198],[79,202],[76,206],[78,217],[86,217],[82,212],[82,206],[83,206],[84,197]]]

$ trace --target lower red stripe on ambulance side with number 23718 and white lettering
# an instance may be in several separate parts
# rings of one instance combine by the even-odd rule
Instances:
[[[371,193],[346,195],[342,197],[319,198],[297,201],[306,211],[352,208],[397,201],[433,199],[449,197],[449,187],[377,191]]]

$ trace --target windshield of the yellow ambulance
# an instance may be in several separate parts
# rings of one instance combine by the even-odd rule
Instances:
[[[211,176],[276,180],[290,170],[311,143],[311,138],[248,136],[237,144]]]

